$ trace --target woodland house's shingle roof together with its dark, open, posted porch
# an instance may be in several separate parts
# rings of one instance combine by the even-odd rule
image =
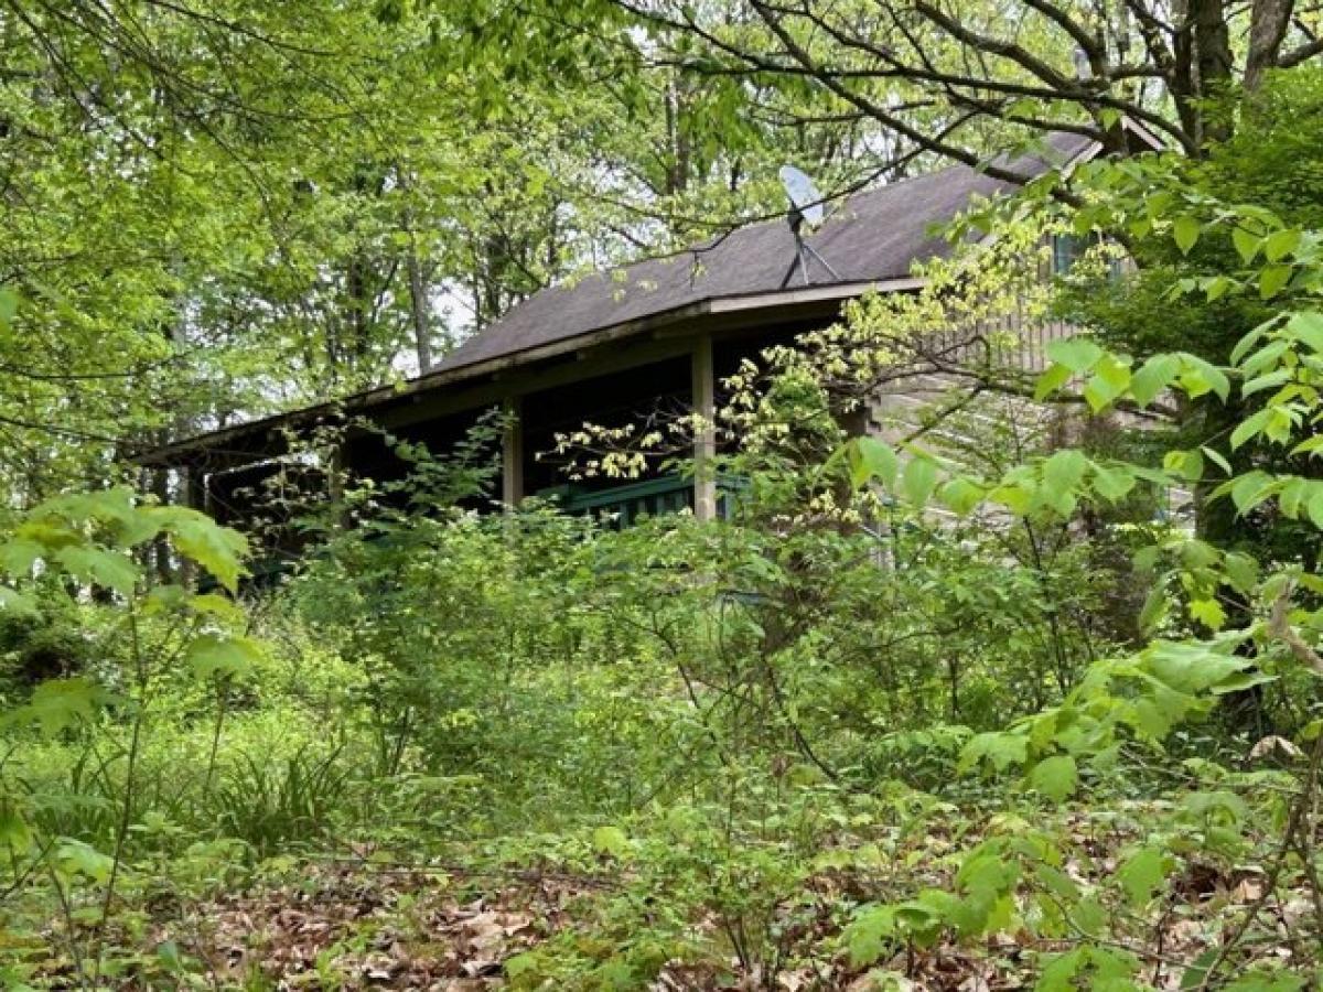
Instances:
[[[1136,132],[1138,134],[1138,132]],[[1139,135],[1140,147],[1151,147]],[[1011,161],[1024,176],[1086,160],[1101,145],[1054,135],[1041,152]],[[505,504],[562,487],[569,511],[614,509],[626,518],[692,507],[718,512],[717,484],[654,475],[620,484],[590,479],[564,488],[557,468],[537,458],[558,433],[585,422],[622,423],[665,405],[712,421],[720,382],[741,360],[836,320],[844,302],[867,291],[906,292],[921,283],[916,262],[953,246],[934,226],[976,197],[1012,185],[955,165],[852,196],[806,241],[828,265],[798,263],[795,235],[774,220],[737,229],[675,258],[552,286],[513,307],[437,368],[402,386],[368,390],[250,423],[187,438],[143,454],[149,470],[181,472],[187,499],[222,522],[251,513],[251,493],[280,468],[290,438],[318,425],[369,422],[393,436],[446,451],[492,407],[513,417],[505,430],[500,497]],[[714,451],[708,433],[699,460]],[[349,429],[340,464],[378,481],[406,472],[376,431]]]

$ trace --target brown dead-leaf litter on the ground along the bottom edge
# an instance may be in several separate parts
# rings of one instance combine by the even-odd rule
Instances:
[[[1097,864],[1103,870],[1115,865],[1106,853]],[[933,864],[913,865],[906,876],[930,881],[942,870]],[[812,890],[814,913],[795,915],[781,931],[778,943],[785,954],[775,966],[769,967],[766,956],[759,964],[741,964],[736,956],[668,962],[646,985],[617,985],[603,971],[601,980],[587,987],[994,992],[1033,988],[1043,971],[1041,955],[1073,946],[1069,939],[1003,934],[972,946],[943,940],[922,950],[898,947],[890,960],[867,971],[853,968],[841,930],[852,909],[867,899],[872,881],[852,872],[810,878],[806,888]],[[1188,865],[1166,895],[1162,926],[1127,946],[1146,963],[1146,987],[1188,988],[1188,963],[1216,948],[1226,914],[1254,903],[1262,881],[1253,869],[1228,873],[1212,865]],[[545,977],[532,975],[521,984],[520,960],[553,946],[587,956],[594,948],[609,952],[599,930],[602,905],[627,885],[627,876],[607,860],[598,873],[574,873],[419,868],[382,861],[372,852],[335,860],[287,858],[278,882],[210,899],[157,899],[148,907],[146,943],[157,954],[169,948],[181,971],[205,975],[206,985],[214,988],[560,988],[554,979],[546,984]],[[1287,956],[1291,914],[1308,911],[1303,893],[1299,905],[1295,902],[1277,903],[1267,913],[1275,917],[1270,926],[1282,930],[1282,954]],[[716,911],[697,915],[692,927],[700,939],[714,938],[704,940],[709,947],[724,943]]]

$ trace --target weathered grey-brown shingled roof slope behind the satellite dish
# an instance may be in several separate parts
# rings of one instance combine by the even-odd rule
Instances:
[[[1041,175],[1089,145],[1089,139],[1078,135],[1053,135],[1043,156],[1020,157],[1008,167],[1025,176]],[[947,241],[934,235],[934,224],[953,218],[975,196],[1009,189],[1009,183],[954,165],[852,196],[806,238],[840,278],[832,278],[816,262],[810,262],[808,278],[814,286],[830,286],[906,276],[914,262],[951,251]],[[794,261],[794,237],[783,220],[736,229],[672,258],[541,290],[462,344],[434,372],[516,354],[705,300],[795,288],[802,284],[798,271],[785,286]]]

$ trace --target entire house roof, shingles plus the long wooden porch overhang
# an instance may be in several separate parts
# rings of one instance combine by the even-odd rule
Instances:
[[[1041,153],[1009,163],[1024,176],[1097,155],[1102,145],[1077,134],[1052,135]],[[781,220],[740,227],[700,245],[687,255],[651,259],[611,274],[594,274],[550,286],[513,307],[499,321],[464,341],[433,370],[398,385],[321,402],[290,413],[198,434],[138,454],[144,467],[205,464],[226,468],[287,451],[286,434],[318,423],[370,417],[389,426],[426,415],[482,409],[503,397],[538,388],[545,370],[569,356],[622,349],[617,366],[627,368],[669,353],[685,335],[722,332],[741,325],[792,323],[828,316],[843,300],[868,291],[913,290],[909,275],[922,259],[954,246],[934,225],[967,209],[976,197],[995,197],[1013,185],[963,165],[916,176],[843,202],[806,238],[827,258],[831,282],[787,288],[803,274],[794,270],[795,242]],[[816,272],[816,265],[810,263]],[[610,365],[597,365],[597,372]],[[581,366],[579,378],[586,377]],[[558,381],[574,381],[561,368]]]

